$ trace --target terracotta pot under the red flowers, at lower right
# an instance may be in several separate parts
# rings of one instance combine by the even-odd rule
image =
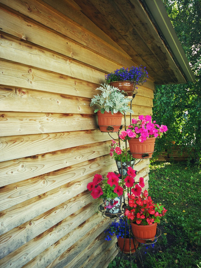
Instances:
[[[157,223],[151,225],[140,225],[131,223],[133,235],[135,240],[139,243],[148,243],[147,240],[153,241],[156,235]]]

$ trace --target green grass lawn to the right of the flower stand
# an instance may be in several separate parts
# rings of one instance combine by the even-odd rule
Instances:
[[[201,268],[200,168],[187,167],[185,162],[150,164],[149,195],[168,211],[160,222],[160,238],[152,250],[142,255],[144,268]],[[142,267],[134,263],[132,267]]]

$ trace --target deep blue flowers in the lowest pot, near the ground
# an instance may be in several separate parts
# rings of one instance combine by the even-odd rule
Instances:
[[[123,217],[119,217],[109,224],[108,229],[104,232],[107,234],[105,240],[110,241],[113,235],[116,235],[117,238],[125,236],[125,224],[126,224],[126,237],[129,237],[129,225]]]

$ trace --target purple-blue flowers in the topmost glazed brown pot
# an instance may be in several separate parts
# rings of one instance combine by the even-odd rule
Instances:
[[[130,68],[120,68],[114,71],[113,73],[107,74],[105,76],[106,82],[114,82],[114,81],[130,81],[135,85],[142,85],[146,82],[148,78],[148,73],[146,71],[146,67],[142,67],[142,65]]]

